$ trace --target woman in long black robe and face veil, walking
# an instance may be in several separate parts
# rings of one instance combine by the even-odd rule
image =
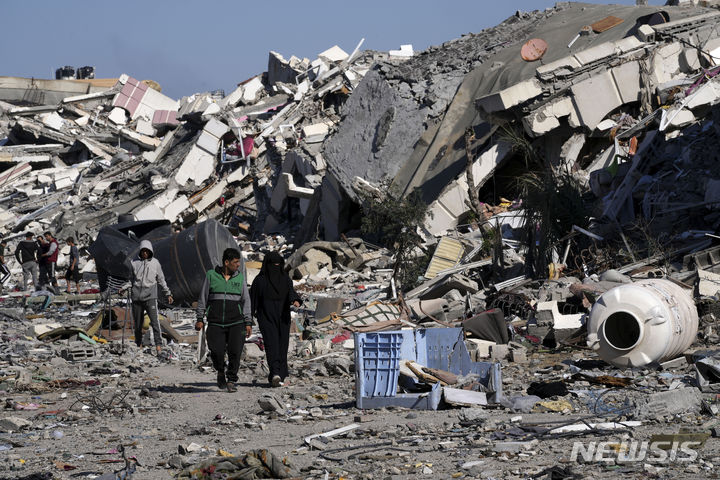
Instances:
[[[287,351],[290,342],[290,305],[299,307],[300,296],[285,272],[285,261],[277,252],[263,259],[260,274],[250,289],[252,314],[263,336],[265,355],[273,387],[284,384],[288,376]]]

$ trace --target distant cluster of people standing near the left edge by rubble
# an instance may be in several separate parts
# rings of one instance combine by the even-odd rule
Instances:
[[[70,259],[67,271],[65,272],[65,280],[67,281],[65,292],[70,293],[70,282],[75,283],[75,290],[80,291],[80,254],[75,245],[75,239],[68,237],[67,245],[70,247]],[[0,242],[0,273],[2,283],[10,277],[10,271],[5,265],[5,241]],[[45,232],[33,238],[32,232],[25,234],[25,240],[18,242],[15,248],[15,259],[22,266],[23,271],[23,291],[28,288],[28,281],[32,280],[35,290],[43,290],[49,285],[57,289],[58,281],[55,277],[55,269],[57,267],[58,255],[60,253],[60,245],[51,232]]]

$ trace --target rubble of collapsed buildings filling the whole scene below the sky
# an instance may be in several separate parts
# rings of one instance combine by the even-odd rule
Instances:
[[[82,294],[2,296],[0,478],[711,476],[720,12],[673,3],[271,52],[229,95],[0,84],[5,240],[94,257]],[[416,244],[367,231],[413,192]],[[304,299],[291,384],[258,383],[255,334],[239,396],[217,391],[190,308],[164,310],[161,354],[136,348],[108,275],[142,239],[169,245],[183,307],[204,272],[175,264],[237,244],[252,281],[281,252]]]

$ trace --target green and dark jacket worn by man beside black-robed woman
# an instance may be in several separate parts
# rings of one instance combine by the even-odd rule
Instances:
[[[252,325],[250,294],[242,270],[238,268],[227,280],[220,266],[205,273],[196,309],[198,321],[207,315],[208,325]]]

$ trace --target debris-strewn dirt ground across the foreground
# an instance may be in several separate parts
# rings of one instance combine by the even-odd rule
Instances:
[[[36,347],[3,361],[0,478],[116,478],[113,472],[125,472],[121,448],[136,470],[117,478],[137,479],[171,478],[211,457],[258,449],[286,459],[298,478],[716,478],[720,463],[716,399],[683,388],[694,381],[684,361],[623,380],[623,372],[588,361],[595,359],[586,352],[533,352],[527,363],[503,368],[506,395],[550,381],[564,381],[569,392],[532,410],[363,411],[355,408],[354,376],[344,372],[350,362],[330,360],[350,357],[339,346],[322,358],[294,356],[290,384],[277,389],[265,383],[263,361],[248,358],[236,393],[217,388],[212,369],[193,363],[190,346],[168,347],[159,358],[134,346],[115,355],[104,346],[92,362],[43,358],[47,347]],[[680,394],[653,403],[653,392],[668,388]],[[547,431],[609,420],[641,425],[579,436]],[[8,428],[13,422],[19,430]],[[357,428],[304,440],[350,425]],[[713,434],[701,436],[693,461],[682,452],[669,463],[622,462],[611,453],[626,448],[623,442],[632,451],[633,441],[681,431]],[[611,442],[608,460],[573,461],[575,441]]]

